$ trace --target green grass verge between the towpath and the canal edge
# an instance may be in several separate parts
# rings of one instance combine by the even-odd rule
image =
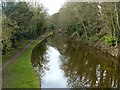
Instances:
[[[47,37],[51,34],[48,34]],[[39,76],[34,71],[30,60],[34,47],[45,38],[34,40],[30,47],[17,60],[4,68],[2,72],[3,88],[40,88]]]

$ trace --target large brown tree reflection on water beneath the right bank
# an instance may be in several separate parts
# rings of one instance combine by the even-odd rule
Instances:
[[[67,45],[63,57],[61,68],[69,87],[118,87],[113,58],[76,43]]]

